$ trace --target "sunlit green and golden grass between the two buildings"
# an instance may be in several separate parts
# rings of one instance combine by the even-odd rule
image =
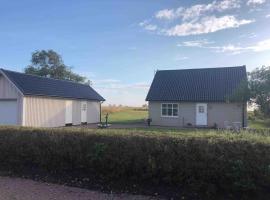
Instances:
[[[102,113],[102,121],[105,121],[106,112]],[[134,108],[123,108],[119,111],[109,113],[108,123],[140,123],[148,117],[148,111],[136,110]]]

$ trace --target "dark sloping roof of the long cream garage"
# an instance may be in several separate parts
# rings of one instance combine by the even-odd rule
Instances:
[[[105,101],[92,87],[72,81],[45,78],[1,69],[16,87],[28,96]]]

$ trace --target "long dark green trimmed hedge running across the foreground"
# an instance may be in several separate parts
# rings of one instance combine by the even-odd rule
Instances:
[[[3,127],[0,162],[212,194],[270,190],[270,137],[249,133]]]

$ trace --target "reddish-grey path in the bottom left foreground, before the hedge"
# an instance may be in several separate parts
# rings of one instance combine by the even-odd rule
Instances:
[[[154,200],[153,197],[105,194],[81,188],[0,177],[0,200]]]

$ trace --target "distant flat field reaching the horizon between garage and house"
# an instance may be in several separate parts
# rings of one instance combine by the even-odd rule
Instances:
[[[148,111],[145,108],[135,107],[102,107],[102,121],[105,121],[105,115],[109,113],[109,123],[139,123],[148,117]]]

